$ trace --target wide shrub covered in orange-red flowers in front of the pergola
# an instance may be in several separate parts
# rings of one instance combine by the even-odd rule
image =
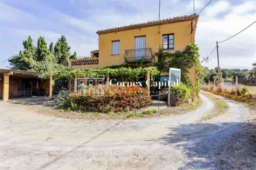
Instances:
[[[151,98],[142,87],[103,87],[103,96],[84,96],[71,94],[64,101],[64,107],[71,110],[82,109],[87,112],[126,112],[135,107],[150,106]],[[137,97],[143,97],[137,99]]]

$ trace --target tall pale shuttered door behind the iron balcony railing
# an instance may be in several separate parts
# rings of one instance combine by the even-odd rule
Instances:
[[[146,54],[146,36],[137,36],[135,37],[135,60],[140,60],[145,57]]]

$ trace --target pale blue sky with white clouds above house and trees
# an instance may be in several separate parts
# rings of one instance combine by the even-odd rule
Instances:
[[[195,0],[199,12],[209,0]],[[0,68],[32,36],[48,45],[65,35],[71,52],[89,56],[98,49],[97,30],[158,20],[158,0],[0,0]],[[161,19],[193,14],[193,0],[161,0]],[[255,0],[213,0],[200,14],[196,44],[207,57],[222,41],[256,20]],[[221,68],[247,68],[256,61],[256,24],[219,46]],[[217,53],[203,66],[217,67]]]

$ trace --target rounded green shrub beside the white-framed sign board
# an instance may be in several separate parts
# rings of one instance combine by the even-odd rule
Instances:
[[[170,104],[178,106],[187,102],[192,97],[192,90],[186,85],[173,86],[170,88]]]

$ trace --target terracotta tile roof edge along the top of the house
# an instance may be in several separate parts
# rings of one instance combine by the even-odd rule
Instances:
[[[110,28],[110,29],[104,29],[104,30],[98,30],[96,33],[97,34],[104,34],[104,33],[110,33],[110,32],[116,32],[116,31],[122,31],[122,30],[127,30],[127,29],[134,29],[134,28],[140,28],[140,27],[148,27],[148,26],[155,26],[155,25],[162,25],[166,23],[174,23],[174,22],[181,22],[181,21],[187,21],[193,18],[199,17],[197,14],[193,15],[185,15],[181,17],[173,17],[173,18],[167,18],[167,19],[160,19],[160,21],[149,21],[149,22],[144,22],[144,23],[138,23],[138,24],[132,24],[128,26],[123,26],[123,27],[115,27],[115,28]]]

